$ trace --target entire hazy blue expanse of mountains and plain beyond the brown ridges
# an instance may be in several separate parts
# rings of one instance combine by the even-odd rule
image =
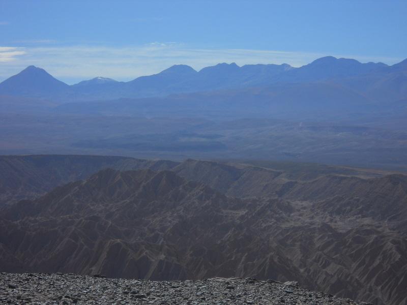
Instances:
[[[0,84],[0,154],[86,151],[405,171],[406,115],[407,60],[176,65],[129,82],[71,86],[28,67]]]

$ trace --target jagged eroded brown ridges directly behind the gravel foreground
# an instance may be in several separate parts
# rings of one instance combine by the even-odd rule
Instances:
[[[269,198],[226,197],[171,171],[106,169],[4,207],[0,270],[298,280],[353,299],[407,304],[405,176],[290,181],[266,169],[242,174],[209,165],[196,179],[227,194],[264,190]],[[270,178],[247,187],[242,177],[252,171]]]

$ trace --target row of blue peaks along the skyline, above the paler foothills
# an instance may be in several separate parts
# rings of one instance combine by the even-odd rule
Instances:
[[[218,64],[200,71],[175,65],[158,74],[141,76],[128,82],[97,77],[67,85],[45,70],[30,66],[0,83],[0,95],[24,96],[59,101],[143,98],[169,94],[292,83],[330,82],[375,100],[377,90],[392,100],[405,98],[407,59],[393,66],[383,63],[362,64],[355,59],[322,57],[300,68],[282,65]],[[389,88],[389,86],[391,88]],[[388,96],[389,97],[389,96]]]

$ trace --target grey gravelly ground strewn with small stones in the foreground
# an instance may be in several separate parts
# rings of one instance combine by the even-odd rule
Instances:
[[[72,273],[0,273],[1,304],[366,304],[247,278],[140,281]]]

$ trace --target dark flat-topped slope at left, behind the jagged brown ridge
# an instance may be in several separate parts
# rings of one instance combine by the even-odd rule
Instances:
[[[0,156],[0,205],[36,198],[57,186],[88,178],[104,168],[163,170],[177,164],[105,156]]]

